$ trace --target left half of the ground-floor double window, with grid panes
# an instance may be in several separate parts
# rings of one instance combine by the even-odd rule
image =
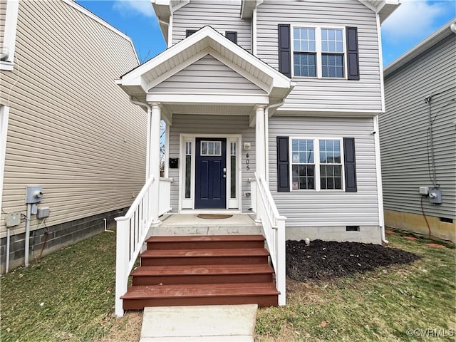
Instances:
[[[315,189],[314,140],[291,140],[293,190]]]

